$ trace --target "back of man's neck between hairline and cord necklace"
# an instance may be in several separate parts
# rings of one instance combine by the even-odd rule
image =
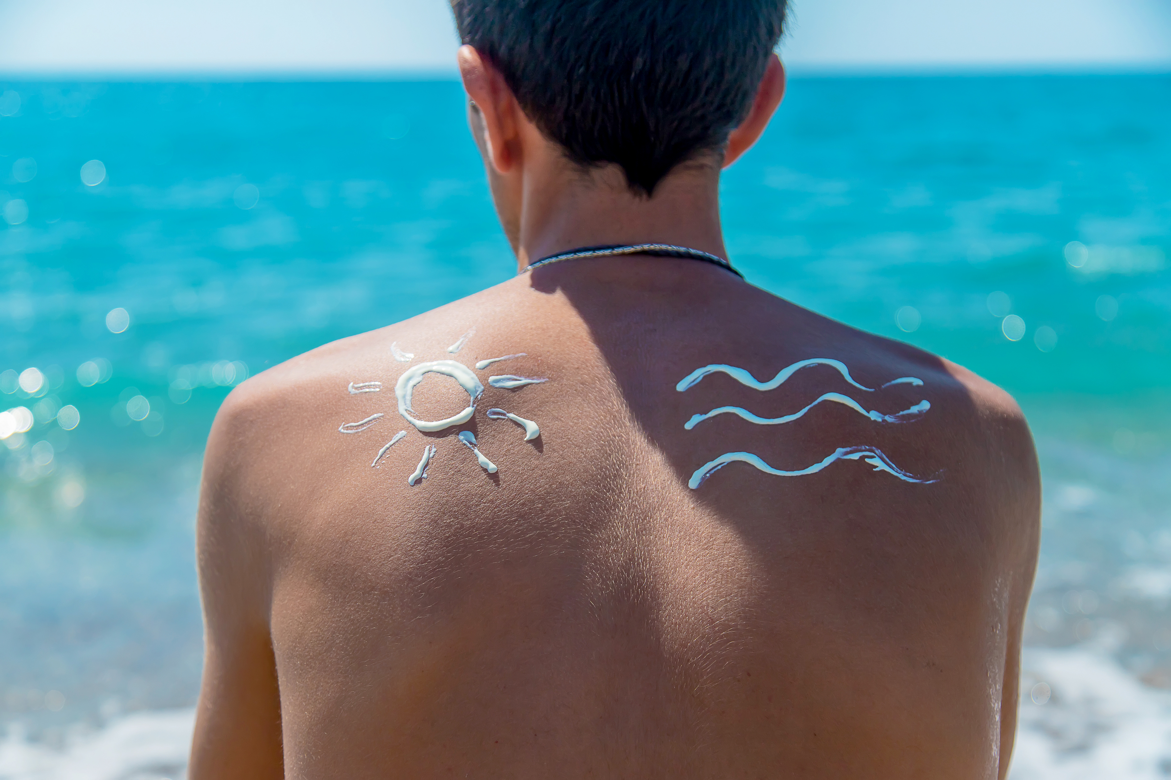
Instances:
[[[518,237],[518,270],[541,257],[604,244],[670,243],[727,257],[719,172],[684,167],[660,181],[653,198],[631,193],[616,166],[528,175]]]

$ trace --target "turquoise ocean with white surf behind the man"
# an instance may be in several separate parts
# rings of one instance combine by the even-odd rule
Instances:
[[[1171,774],[1171,76],[795,78],[723,195],[749,282],[1028,415],[1012,778]],[[514,271],[463,92],[0,81],[0,780],[177,780],[217,407]]]

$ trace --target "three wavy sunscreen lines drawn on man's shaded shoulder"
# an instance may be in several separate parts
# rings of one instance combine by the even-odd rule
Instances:
[[[857,381],[855,381],[854,377],[850,375],[850,370],[841,360],[834,360],[833,358],[812,358],[809,360],[799,360],[793,365],[786,366],[780,372],[778,372],[778,374],[773,377],[773,379],[768,381],[760,381],[745,368],[738,368],[735,366],[730,366],[726,364],[712,364],[708,366],[704,366],[703,368],[697,368],[696,371],[691,372],[682,380],[679,380],[679,384],[677,384],[674,388],[679,393],[683,393],[698,385],[705,377],[715,373],[723,373],[727,374],[732,379],[735,379],[741,385],[752,387],[753,389],[762,392],[773,391],[783,385],[786,381],[788,381],[788,379],[793,377],[793,374],[801,371],[802,368],[807,368],[809,366],[819,366],[819,365],[830,366],[831,368],[835,368],[837,373],[842,375],[842,379],[844,379],[854,387],[864,391],[867,393],[876,393],[881,389],[885,389],[895,385],[910,385],[911,387],[923,386],[922,379],[917,379],[915,377],[900,377],[877,388],[867,387],[865,385],[861,385]],[[761,417],[745,409],[744,407],[720,406],[706,414],[692,415],[692,417],[687,420],[687,422],[685,422],[683,427],[685,430],[692,430],[700,422],[704,422],[705,420],[711,420],[712,417],[719,416],[721,414],[734,414],[741,420],[746,420],[748,422],[759,426],[780,426],[800,420],[806,415],[806,413],[808,413],[810,409],[823,402],[840,403],[850,409],[854,409],[858,414],[869,417],[870,420],[878,423],[913,422],[915,420],[920,419],[922,415],[924,415],[931,408],[931,403],[926,400],[923,400],[902,412],[897,412],[895,414],[883,414],[881,412],[865,409],[861,403],[855,401],[849,395],[843,395],[842,393],[824,393],[820,398],[817,398],[817,400],[815,400],[813,403],[809,403],[800,412],[787,414],[780,417]],[[910,474],[909,471],[904,471],[903,469],[895,465],[895,463],[890,460],[890,457],[888,457],[885,453],[883,453],[876,447],[854,446],[854,447],[838,447],[836,450],[834,450],[833,454],[828,455],[824,460],[820,461],[819,463],[814,463],[808,468],[797,469],[793,471],[773,468],[772,465],[766,463],[759,455],[753,455],[752,453],[725,453],[724,455],[720,455],[715,460],[708,461],[704,465],[696,469],[694,474],[692,474],[691,478],[687,481],[687,486],[691,488],[692,490],[698,489],[699,485],[704,484],[704,482],[706,482],[708,477],[711,477],[713,474],[723,469],[728,463],[737,463],[737,462],[747,463],[752,467],[755,467],[758,470],[763,471],[765,474],[771,474],[779,477],[801,477],[810,474],[817,474],[822,469],[829,467],[830,464],[837,461],[862,461],[874,467],[875,471],[885,471],[886,474],[890,474],[891,476],[902,479],[903,482],[911,482],[915,484],[932,484],[934,482],[938,482],[938,479],[934,478],[931,479],[920,478]]]

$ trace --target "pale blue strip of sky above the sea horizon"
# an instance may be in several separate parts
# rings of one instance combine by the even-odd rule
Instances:
[[[1171,0],[790,0],[819,70],[1171,70]],[[0,0],[0,74],[453,73],[446,0]]]

